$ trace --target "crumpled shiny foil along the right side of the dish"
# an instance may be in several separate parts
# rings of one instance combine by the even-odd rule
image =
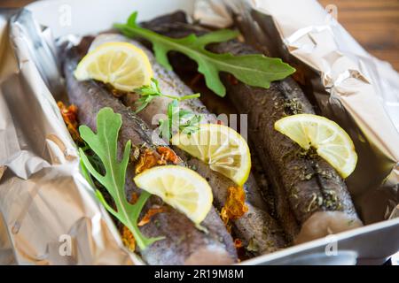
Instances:
[[[297,69],[297,80],[321,114],[351,136],[358,154],[348,189],[365,224],[397,215],[399,74],[367,53],[316,0],[199,0],[194,19],[235,23],[246,41]]]

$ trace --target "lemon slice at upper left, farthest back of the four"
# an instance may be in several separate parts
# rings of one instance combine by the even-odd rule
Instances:
[[[77,80],[100,80],[132,91],[149,85],[153,69],[143,50],[128,42],[106,42],[90,51],[74,71]]]

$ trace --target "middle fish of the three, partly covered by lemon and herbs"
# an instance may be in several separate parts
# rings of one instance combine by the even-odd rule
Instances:
[[[192,89],[188,88],[182,80],[171,71],[166,70],[164,67],[159,65],[150,50],[147,50],[143,45],[138,42],[129,40],[120,34],[101,34],[93,42],[92,47],[98,46],[98,44],[104,42],[131,42],[140,49],[144,50],[150,59],[151,65],[153,66],[154,78],[158,80],[160,89],[163,93],[171,96],[184,96],[192,94]],[[137,94],[129,93],[123,98],[125,105],[135,109],[135,102],[137,101]],[[145,121],[151,128],[158,126],[158,119],[153,119],[156,114],[166,113],[168,109],[168,103],[172,100],[168,97],[155,97],[151,103],[145,108],[145,110],[137,113],[141,119]],[[215,123],[215,115],[211,115],[200,99],[184,100],[179,103],[182,109],[193,111],[198,114],[205,114],[202,123]],[[215,172],[209,168],[207,164],[204,164],[197,158],[188,157],[188,155],[182,150],[176,147],[172,148],[176,151],[176,154],[181,157],[184,162],[192,167],[196,168],[196,171],[201,176],[207,179],[210,187],[212,187],[214,195],[214,205],[216,209],[221,210],[227,199],[228,187],[236,186],[231,180],[224,177],[222,174]],[[287,242],[284,236],[282,228],[278,225],[278,222],[270,217],[268,212],[267,204],[264,202],[261,195],[261,190],[254,180],[254,176],[250,174],[246,184],[244,186],[246,191],[246,205],[248,211],[240,218],[233,220],[233,232],[239,237],[245,246],[251,242],[252,246],[256,246],[257,250],[251,251],[253,255],[267,254],[278,249],[285,248]]]

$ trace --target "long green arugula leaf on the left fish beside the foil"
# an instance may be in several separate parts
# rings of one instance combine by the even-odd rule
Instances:
[[[137,245],[140,249],[145,249],[154,241],[159,241],[163,237],[146,238],[137,226],[137,220],[140,211],[143,209],[145,202],[150,197],[148,192],[142,191],[137,203],[131,204],[125,196],[125,177],[129,162],[129,153],[131,144],[126,142],[123,150],[123,157],[119,162],[117,157],[117,141],[118,133],[121,128],[121,115],[114,113],[109,107],[103,108],[98,112],[97,116],[97,134],[94,134],[88,126],[80,126],[79,132],[84,142],[101,160],[105,170],[105,174],[98,172],[91,164],[90,157],[86,156],[83,149],[79,149],[82,158],[83,172],[88,178],[87,172],[98,180],[98,182],[106,187],[108,193],[113,197],[116,210],[106,203],[104,196],[97,189],[96,195],[100,202],[106,207],[115,218],[118,218],[124,226],[127,226],[133,233]]]

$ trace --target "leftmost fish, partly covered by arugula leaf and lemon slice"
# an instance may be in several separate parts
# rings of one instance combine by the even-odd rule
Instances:
[[[76,50],[70,50],[64,57],[64,74],[66,77],[67,96],[70,103],[78,107],[78,118],[81,124],[96,130],[96,117],[103,107],[111,107],[120,113],[122,126],[119,137],[120,151],[129,140],[132,145],[147,148],[156,146],[151,138],[152,131],[128,107],[102,88],[93,80],[77,81],[74,69],[82,56]],[[121,152],[119,152],[121,155]],[[134,168],[129,164],[126,176],[126,194],[139,193],[133,182]],[[153,204],[163,204],[160,198],[153,195],[145,205],[144,212]],[[212,208],[201,226],[208,233],[201,232],[184,214],[166,205],[167,210],[156,214],[145,226],[140,227],[148,237],[165,236],[147,249],[141,256],[147,264],[233,264],[237,262],[237,251],[231,235],[226,231],[222,220]],[[143,212],[143,213],[144,213]]]

